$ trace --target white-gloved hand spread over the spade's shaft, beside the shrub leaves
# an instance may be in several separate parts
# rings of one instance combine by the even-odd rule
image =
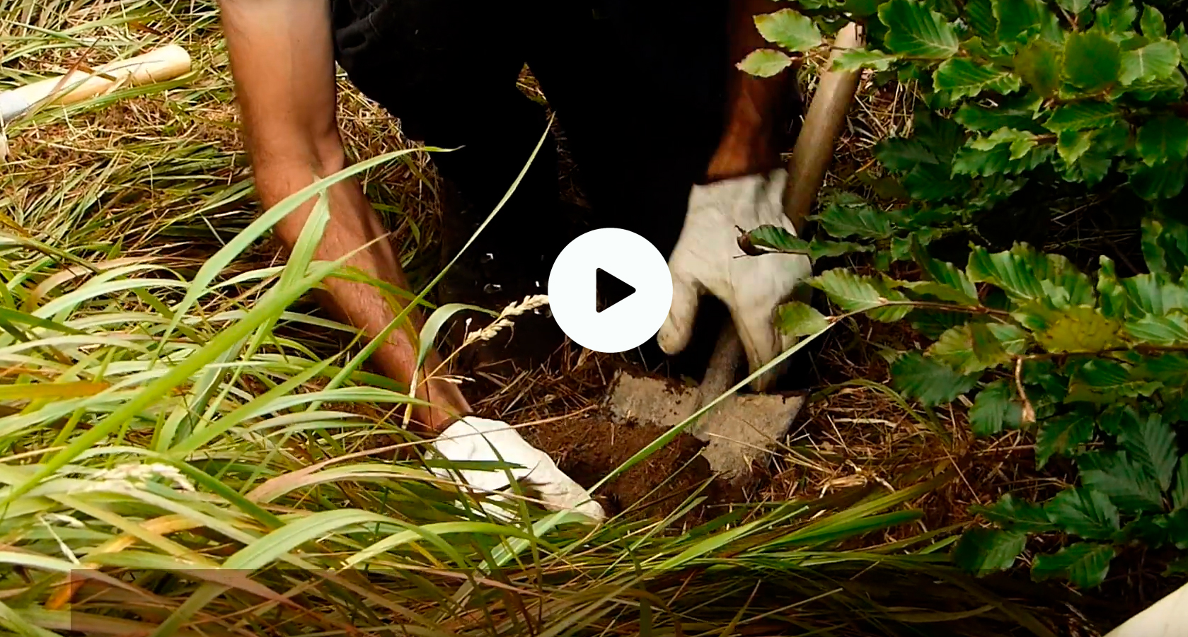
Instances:
[[[672,306],[657,335],[666,353],[677,353],[689,343],[697,298],[703,292],[729,308],[752,372],[796,342],[776,330],[775,310],[789,300],[797,284],[811,276],[808,256],[746,256],[738,244],[740,228],[778,225],[796,234],[783,211],[786,180],[788,172],[779,168],[693,186],[684,227],[669,257]],[[777,371],[756,378],[752,387],[766,389]]]

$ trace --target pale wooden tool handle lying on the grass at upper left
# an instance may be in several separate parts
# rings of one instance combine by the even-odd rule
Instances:
[[[0,120],[8,121],[50,96],[53,96],[56,103],[74,104],[118,87],[165,82],[188,72],[190,55],[185,49],[170,44],[128,59],[103,64],[95,68],[94,72],[74,71],[0,93]]]

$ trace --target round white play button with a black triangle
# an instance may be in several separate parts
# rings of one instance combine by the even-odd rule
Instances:
[[[601,289],[605,304],[598,304]],[[561,250],[549,273],[549,306],[579,345],[601,352],[656,336],[672,305],[672,275],[646,238],[620,228],[590,230]]]

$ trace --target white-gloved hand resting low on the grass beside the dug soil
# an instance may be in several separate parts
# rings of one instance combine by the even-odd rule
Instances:
[[[529,445],[519,432],[506,422],[485,418],[467,416],[446,428],[434,440],[432,450],[449,460],[485,460],[520,465],[508,470],[450,470],[434,467],[434,474],[456,479],[459,474],[470,486],[481,491],[497,491],[510,486],[507,473],[522,484],[531,485],[541,493],[544,505],[551,510],[573,509],[586,514],[595,522],[606,520],[602,507],[590,499],[588,491],[557,469],[556,463],[543,451]],[[504,496],[492,496],[500,499]],[[498,507],[484,507],[493,515],[506,517]]]

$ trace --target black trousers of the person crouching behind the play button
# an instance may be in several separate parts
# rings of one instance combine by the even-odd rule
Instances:
[[[722,130],[727,0],[331,0],[350,81],[437,153],[442,177],[485,216],[546,126],[517,88],[527,64],[565,133],[593,227],[639,232],[665,255],[689,187]],[[488,232],[555,242],[549,139]],[[523,242],[523,243],[520,243]],[[560,250],[562,246],[557,246]],[[551,262],[551,261],[550,261]]]

